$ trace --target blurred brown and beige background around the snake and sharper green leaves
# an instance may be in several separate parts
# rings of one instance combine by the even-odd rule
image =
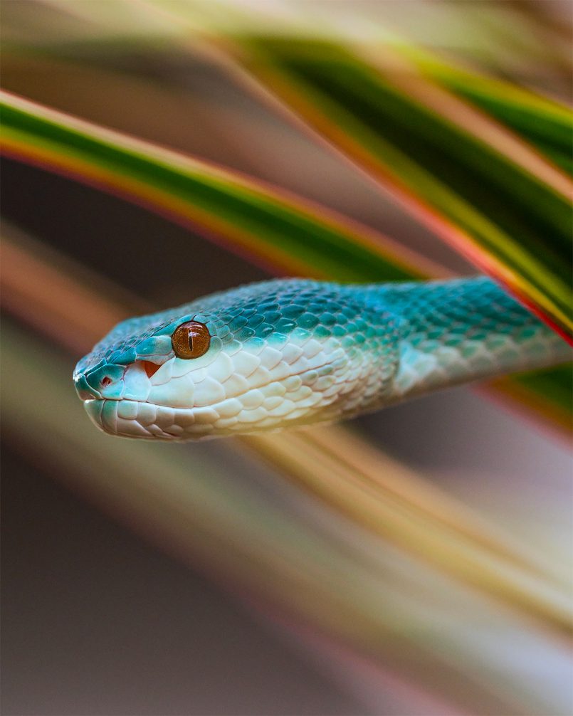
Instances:
[[[557,0],[4,1],[2,86],[473,274],[225,43],[399,38],[566,104],[571,18]],[[56,172],[2,162],[3,712],[571,713],[563,430],[463,387],[260,440],[101,435],[71,374],[115,321],[294,271]]]

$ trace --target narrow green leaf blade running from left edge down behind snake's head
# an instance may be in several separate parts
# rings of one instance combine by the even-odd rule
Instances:
[[[414,263],[397,256],[397,247],[388,248],[388,240],[366,230],[360,240],[360,227],[343,225],[330,217],[307,211],[304,205],[289,202],[278,193],[264,190],[238,175],[217,170],[206,163],[190,160],[175,162],[170,153],[145,143],[122,142],[120,135],[90,133],[87,125],[78,129],[74,122],[58,121],[40,112],[14,103],[4,95],[2,104],[4,147],[32,147],[37,153],[64,157],[80,167],[80,173],[93,168],[130,183],[137,183],[162,197],[177,200],[181,211],[188,212],[207,228],[216,226],[228,243],[242,241],[252,253],[274,256],[284,266],[294,263],[299,270],[340,281],[379,281],[410,279],[420,276]],[[137,189],[135,189],[137,193]],[[240,234],[240,238],[239,237]]]

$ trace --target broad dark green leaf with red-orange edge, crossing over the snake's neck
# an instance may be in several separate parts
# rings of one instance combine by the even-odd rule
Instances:
[[[403,57],[385,57],[387,49],[373,59],[312,39],[225,42],[266,87],[390,185],[442,238],[571,337],[572,185],[552,164]],[[540,113],[546,120],[546,111]]]

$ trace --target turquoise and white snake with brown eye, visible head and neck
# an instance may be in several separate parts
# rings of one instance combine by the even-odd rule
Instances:
[[[570,357],[486,276],[272,279],[120,322],[73,380],[110,435],[198,440],[342,420]]]

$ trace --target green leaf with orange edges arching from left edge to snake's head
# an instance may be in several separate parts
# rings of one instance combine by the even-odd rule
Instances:
[[[439,269],[375,231],[213,165],[1,93],[4,153],[193,223],[266,266],[340,281]]]

